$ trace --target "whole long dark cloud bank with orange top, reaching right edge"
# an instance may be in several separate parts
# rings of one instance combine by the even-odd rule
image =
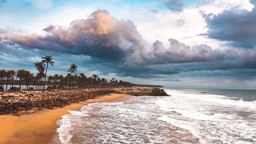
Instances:
[[[10,44],[102,60],[98,67],[126,76],[177,74],[201,70],[255,69],[255,49],[212,49],[208,45],[190,47],[169,39],[169,48],[159,40],[146,42],[129,20],[98,10],[88,19],[74,20],[68,28],[48,26],[45,34],[12,34]],[[87,63],[85,63],[87,64]],[[91,66],[95,65],[92,61]]]

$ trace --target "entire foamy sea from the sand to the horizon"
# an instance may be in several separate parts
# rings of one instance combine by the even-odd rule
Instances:
[[[256,90],[164,88],[86,105],[56,122],[61,143],[256,143]]]

